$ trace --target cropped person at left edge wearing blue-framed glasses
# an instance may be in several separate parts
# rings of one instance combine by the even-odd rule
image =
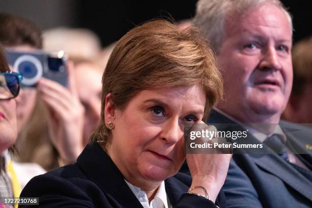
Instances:
[[[17,138],[14,98],[20,90],[20,79],[20,74],[10,71],[5,51],[0,44],[0,205],[2,207],[12,207],[1,204],[4,202],[2,200],[7,197],[19,197],[20,191],[15,172],[12,170],[12,162],[5,159],[8,149],[12,150]]]

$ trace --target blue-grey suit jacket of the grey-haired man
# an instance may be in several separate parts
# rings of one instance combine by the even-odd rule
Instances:
[[[234,123],[216,111],[212,111],[208,122]],[[299,127],[285,121],[279,125],[282,129]],[[223,186],[228,207],[312,207],[312,156],[305,148],[305,144],[312,143],[312,131],[305,129],[286,135],[293,146],[306,153],[297,155],[310,170],[291,164],[274,152],[233,154]],[[259,141],[249,134],[245,143]]]

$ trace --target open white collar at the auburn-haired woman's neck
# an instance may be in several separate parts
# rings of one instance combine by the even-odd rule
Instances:
[[[145,200],[148,201],[148,198],[146,196],[146,193],[141,190],[139,187],[134,186],[133,184],[129,183],[126,179],[124,179],[128,187],[131,189],[131,191],[134,193],[134,195],[137,197],[137,199],[142,203],[141,198],[145,198]],[[154,199],[160,199],[161,202],[165,205],[165,208],[168,208],[168,202],[167,202],[167,194],[165,189],[165,181],[162,181],[161,185],[159,186]],[[153,199],[153,200],[154,200]]]

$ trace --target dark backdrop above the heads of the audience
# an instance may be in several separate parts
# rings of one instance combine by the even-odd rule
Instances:
[[[196,2],[196,0],[0,0],[0,12],[26,17],[42,30],[60,26],[88,28],[99,36],[102,46],[106,46],[118,40],[135,25],[152,18],[169,17],[176,21],[192,18]],[[312,35],[312,1],[282,2],[294,16],[294,41]]]

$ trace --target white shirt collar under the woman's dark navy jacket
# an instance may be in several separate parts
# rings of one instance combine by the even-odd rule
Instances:
[[[125,182],[144,208],[171,208],[172,207],[169,199],[167,198],[167,194],[165,190],[165,181],[162,181],[153,200],[151,200],[150,203],[148,203],[147,195],[143,190],[141,190],[139,187],[136,187],[130,184],[126,179],[125,179]]]

